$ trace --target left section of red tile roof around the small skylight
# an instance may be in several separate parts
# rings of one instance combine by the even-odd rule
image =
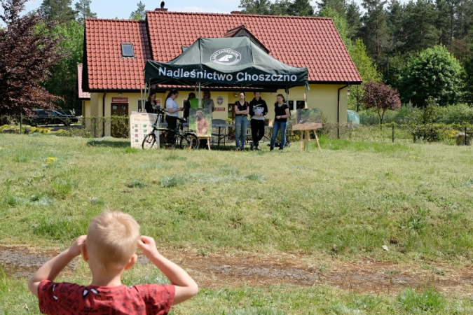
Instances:
[[[144,87],[144,64],[151,59],[146,22],[85,20],[84,90],[139,90]],[[121,43],[132,43],[135,57],[122,57]],[[87,85],[87,84],[85,84]]]

